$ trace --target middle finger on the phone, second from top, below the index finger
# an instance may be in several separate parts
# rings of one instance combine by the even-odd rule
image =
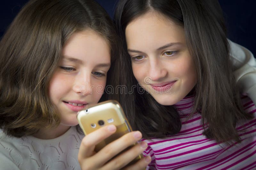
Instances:
[[[111,142],[110,144],[106,145],[97,153],[97,155],[93,155],[93,156],[96,157],[100,155],[100,157],[97,158],[99,162],[107,162],[109,159],[116,156],[119,152],[123,151],[125,148],[136,143],[138,140],[141,139],[141,137],[142,137],[142,134],[140,133],[140,131],[133,131],[133,132],[126,133],[121,138],[118,138],[115,141]]]

